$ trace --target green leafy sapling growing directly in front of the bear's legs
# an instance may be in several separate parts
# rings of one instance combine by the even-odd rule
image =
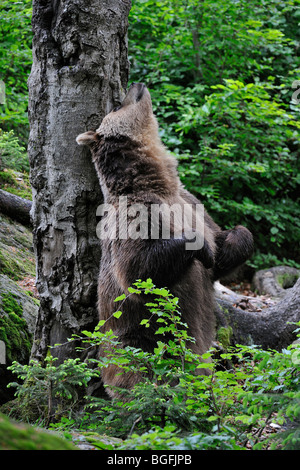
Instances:
[[[115,364],[120,373],[140,373],[144,375],[144,380],[133,390],[116,388],[124,401],[115,399],[108,403],[91,399],[87,409],[92,409],[101,418],[103,426],[109,428],[114,424],[115,431],[123,437],[131,434],[135,427],[164,427],[169,422],[175,423],[178,428],[192,430],[201,417],[191,407],[185,408],[183,376],[213,365],[204,362],[189,349],[188,344],[194,339],[188,335],[187,325],[182,322],[178,298],[167,289],[156,288],[151,280],[134,284],[129,288],[129,295],[133,294],[154,297],[153,301],[146,303],[150,318],[141,322],[147,328],[153,318],[156,319],[158,340],[152,354],[133,347],[121,348],[112,331],[101,333],[104,321],[99,322],[93,333],[83,331],[85,337],[81,340],[101,345],[106,350],[106,357],[94,361],[100,368]],[[120,296],[116,301],[124,299],[125,296]],[[121,312],[114,315],[120,316]]]

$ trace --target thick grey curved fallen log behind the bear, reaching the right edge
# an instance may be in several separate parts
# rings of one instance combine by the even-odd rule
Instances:
[[[296,339],[300,321],[300,278],[277,299],[237,296],[216,285],[218,327],[231,328],[232,344],[256,344],[263,349],[287,347]]]

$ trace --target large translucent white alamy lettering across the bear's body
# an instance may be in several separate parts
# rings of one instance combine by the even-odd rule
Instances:
[[[120,196],[117,205],[97,208],[96,233],[101,240],[184,239],[186,250],[200,250],[204,245],[203,204],[129,204]]]

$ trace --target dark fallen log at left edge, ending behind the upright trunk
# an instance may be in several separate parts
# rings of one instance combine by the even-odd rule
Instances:
[[[0,212],[24,225],[30,225],[32,202],[0,189]]]

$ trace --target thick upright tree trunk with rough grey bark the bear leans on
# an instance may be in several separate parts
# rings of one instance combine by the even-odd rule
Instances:
[[[97,322],[102,202],[88,149],[75,138],[96,129],[127,86],[129,0],[33,0],[29,158],[40,310],[32,357]],[[59,360],[74,345],[52,350]]]

